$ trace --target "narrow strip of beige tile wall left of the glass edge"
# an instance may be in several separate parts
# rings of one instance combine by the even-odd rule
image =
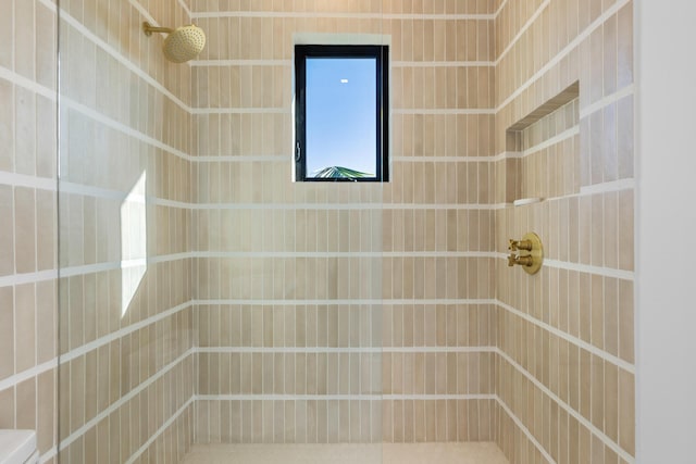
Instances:
[[[0,2],[0,429],[57,436],[55,13]]]

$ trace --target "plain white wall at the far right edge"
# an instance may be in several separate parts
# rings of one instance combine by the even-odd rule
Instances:
[[[637,462],[696,462],[696,2],[636,0]]]

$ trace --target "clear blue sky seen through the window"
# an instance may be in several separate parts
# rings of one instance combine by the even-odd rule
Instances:
[[[371,176],[376,166],[376,60],[308,58],[307,176],[348,167]]]

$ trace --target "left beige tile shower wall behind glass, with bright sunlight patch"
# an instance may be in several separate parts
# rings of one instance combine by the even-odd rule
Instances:
[[[190,66],[140,29],[189,23],[171,3],[61,4],[65,463],[176,462],[192,441]]]

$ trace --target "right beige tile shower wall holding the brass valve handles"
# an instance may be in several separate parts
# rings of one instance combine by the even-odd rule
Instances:
[[[497,262],[497,441],[510,462],[634,462],[632,9],[508,0],[496,20],[496,152],[522,156],[518,172],[496,168],[496,196],[545,198],[496,212],[497,250],[534,230],[546,259],[533,277]],[[579,99],[511,153],[506,130],[574,81]]]

